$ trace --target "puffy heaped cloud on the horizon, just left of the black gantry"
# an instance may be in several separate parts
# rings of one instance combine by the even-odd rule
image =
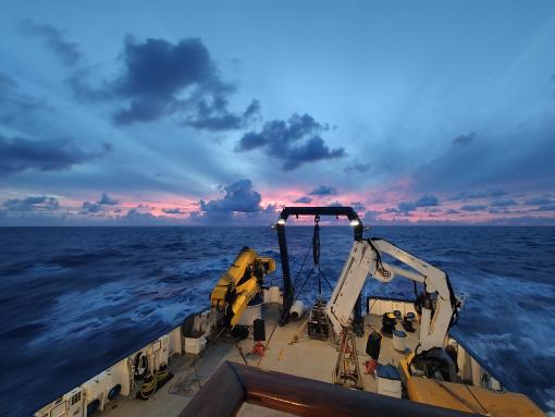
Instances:
[[[233,212],[262,211],[260,193],[252,189],[250,180],[238,180],[223,187],[223,198],[200,200],[200,210],[207,214],[227,216]]]

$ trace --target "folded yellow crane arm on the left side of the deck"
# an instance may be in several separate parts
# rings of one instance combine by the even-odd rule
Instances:
[[[244,247],[210,293],[210,304],[224,311],[226,323],[234,328],[248,303],[258,294],[263,278],[275,271],[272,258],[257,256]]]

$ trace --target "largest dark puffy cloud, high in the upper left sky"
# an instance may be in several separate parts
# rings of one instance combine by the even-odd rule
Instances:
[[[101,88],[89,87],[78,74],[69,79],[77,97],[121,100],[113,114],[118,125],[176,115],[184,125],[198,130],[227,131],[246,126],[260,111],[258,100],[240,113],[229,109],[235,86],[221,79],[199,38],[172,44],[152,38],[137,42],[127,37],[122,60],[120,76],[106,81]]]

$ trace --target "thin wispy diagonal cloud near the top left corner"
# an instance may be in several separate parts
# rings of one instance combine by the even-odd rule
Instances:
[[[42,39],[63,64],[73,66],[79,62],[78,45],[67,40],[64,33],[59,28],[52,25],[38,24],[30,20],[21,22],[17,28],[23,35]]]

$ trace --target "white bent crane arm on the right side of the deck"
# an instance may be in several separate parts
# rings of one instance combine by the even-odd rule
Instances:
[[[411,270],[383,262],[382,254],[392,256]],[[457,309],[457,299],[447,275],[381,238],[357,241],[353,244],[326,306],[326,314],[335,333],[340,334],[343,328],[350,326],[353,308],[368,275],[381,282],[390,282],[396,274],[424,284],[427,294],[436,293],[433,309],[430,305],[422,306],[420,346],[423,351],[443,348],[452,317]]]

